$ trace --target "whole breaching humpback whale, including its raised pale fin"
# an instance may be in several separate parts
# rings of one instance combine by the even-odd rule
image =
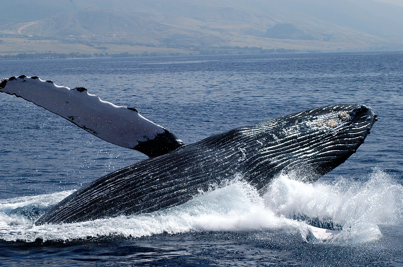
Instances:
[[[377,120],[366,105],[328,105],[183,144],[137,110],[102,101],[82,87],[70,89],[22,75],[3,79],[0,91],[150,157],[81,187],[36,225],[154,212],[185,203],[235,177],[260,194],[282,173],[316,181],[355,153]]]

